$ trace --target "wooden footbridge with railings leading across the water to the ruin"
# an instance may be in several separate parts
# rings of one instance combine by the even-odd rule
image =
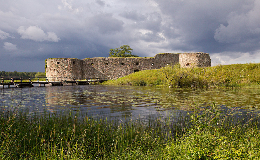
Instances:
[[[42,85],[63,85],[66,83],[73,84],[91,84],[102,83],[107,81],[106,77],[0,77],[0,85],[8,86],[17,85],[17,87],[33,87],[34,84]]]

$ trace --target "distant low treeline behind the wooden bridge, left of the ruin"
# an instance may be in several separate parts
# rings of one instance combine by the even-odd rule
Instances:
[[[0,71],[0,77],[44,77],[44,72],[6,72]]]

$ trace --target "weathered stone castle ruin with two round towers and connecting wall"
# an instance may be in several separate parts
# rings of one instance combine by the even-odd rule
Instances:
[[[164,53],[154,57],[124,58],[50,58],[46,59],[47,77],[90,77],[106,76],[108,79],[124,77],[139,70],[160,69],[169,63],[180,63],[181,67],[191,64],[197,67],[211,66],[207,53]]]

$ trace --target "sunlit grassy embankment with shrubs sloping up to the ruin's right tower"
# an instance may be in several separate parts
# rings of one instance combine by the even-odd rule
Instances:
[[[160,85],[171,87],[244,87],[260,88],[260,63],[216,65],[207,68],[180,68],[178,64],[159,70],[132,73],[104,84]],[[167,80],[168,78],[168,80]]]

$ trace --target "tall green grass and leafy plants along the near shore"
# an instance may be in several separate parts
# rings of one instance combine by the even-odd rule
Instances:
[[[1,111],[0,159],[260,159],[259,115],[193,107],[147,123]]]

